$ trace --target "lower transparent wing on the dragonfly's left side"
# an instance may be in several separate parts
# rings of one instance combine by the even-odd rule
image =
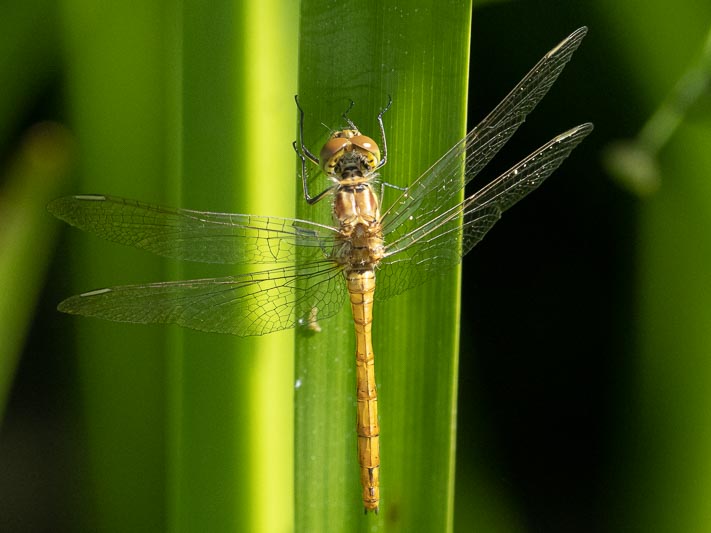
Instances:
[[[65,313],[116,322],[178,324],[214,333],[264,335],[343,308],[341,268],[330,261],[224,278],[123,285],[72,296]]]

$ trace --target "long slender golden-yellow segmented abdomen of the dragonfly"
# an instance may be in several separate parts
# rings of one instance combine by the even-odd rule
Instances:
[[[363,506],[366,512],[377,513],[380,500],[380,424],[371,337],[375,271],[347,270],[346,281],[356,332],[356,430]]]

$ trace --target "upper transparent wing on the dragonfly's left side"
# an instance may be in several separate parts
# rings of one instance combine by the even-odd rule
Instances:
[[[201,263],[290,263],[328,255],[337,230],[292,218],[173,209],[115,196],[66,196],[47,209],[84,231]]]

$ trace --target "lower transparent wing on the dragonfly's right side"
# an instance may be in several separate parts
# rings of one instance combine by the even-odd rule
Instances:
[[[460,204],[387,243],[376,297],[399,294],[458,264],[501,214],[543,183],[592,129],[582,124],[558,135]]]

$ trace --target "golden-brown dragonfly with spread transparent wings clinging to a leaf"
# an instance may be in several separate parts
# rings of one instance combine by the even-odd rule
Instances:
[[[365,512],[380,505],[380,425],[371,337],[375,300],[400,294],[453,268],[501,214],[536,189],[592,131],[576,126],[461,200],[460,193],[545,96],[587,28],[550,50],[466,137],[381,209],[379,171],[388,159],[383,115],[380,146],[347,116],[314,155],[304,144],[303,194],[332,202],[333,224],[295,218],[174,209],[104,195],[51,202],[58,218],[109,241],[187,261],[257,265],[211,279],[163,281],[93,290],[58,306],[65,313],[118,322],[178,324],[205,332],[264,335],[322,321],[350,299],[356,337],[357,450]],[[350,109],[350,108],[349,108]],[[311,195],[308,166],[330,185]],[[311,168],[311,167],[309,167]],[[267,265],[259,267],[259,265]],[[377,290],[376,290],[377,279]]]

